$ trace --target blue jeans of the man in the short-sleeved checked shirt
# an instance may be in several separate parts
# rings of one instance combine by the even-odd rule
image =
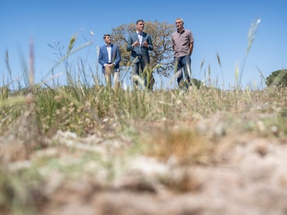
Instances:
[[[182,57],[174,57],[175,66],[177,68],[175,76],[177,77],[177,84],[180,86],[180,82],[183,79],[183,72],[187,82],[191,83],[191,55]],[[182,72],[183,69],[183,72]]]

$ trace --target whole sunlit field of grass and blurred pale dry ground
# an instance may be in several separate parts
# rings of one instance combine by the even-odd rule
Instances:
[[[229,90],[49,86],[31,72],[2,86],[0,214],[285,214],[286,88],[238,75]]]

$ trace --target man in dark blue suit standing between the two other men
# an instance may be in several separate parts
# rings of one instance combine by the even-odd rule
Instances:
[[[141,76],[143,76],[144,86],[148,86],[150,88],[150,83],[148,83],[150,80],[147,81],[147,75],[151,76],[152,74],[147,74],[148,64],[150,64],[150,55],[148,51],[153,50],[153,42],[150,34],[143,32],[144,21],[139,19],[137,20],[136,24],[137,31],[129,35],[127,46],[127,50],[131,51],[130,62],[133,64],[132,76],[134,84],[137,86],[137,77],[139,77],[139,68],[141,68]]]

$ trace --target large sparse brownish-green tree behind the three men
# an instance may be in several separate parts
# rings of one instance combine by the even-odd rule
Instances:
[[[121,66],[130,65],[130,52],[126,50],[128,35],[136,30],[136,24],[122,24],[112,28],[112,41],[119,44],[121,51]],[[169,77],[173,74],[173,48],[171,45],[171,34],[174,26],[160,23],[159,21],[145,21],[144,32],[151,35],[153,40],[153,51],[150,51],[150,66],[154,68],[153,73]]]

